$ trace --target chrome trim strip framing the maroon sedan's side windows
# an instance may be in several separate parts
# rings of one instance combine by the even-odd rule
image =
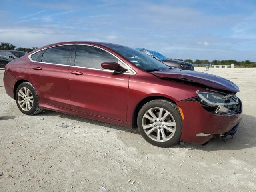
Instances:
[[[43,49],[40,49],[32,54],[29,54],[28,55],[28,58],[30,61],[32,62],[38,62],[38,63],[44,63],[44,64],[52,64],[52,65],[61,65],[61,66],[72,66],[72,67],[77,67],[77,68],[84,68],[84,69],[93,69],[93,70],[100,70],[100,71],[108,71],[108,72],[114,72],[114,70],[106,70],[106,69],[95,69],[95,68],[88,68],[88,67],[80,67],[80,66],[73,66],[73,65],[63,65],[63,64],[56,64],[56,63],[46,63],[46,62],[40,62],[40,61],[34,61],[32,60],[31,56],[33,54],[36,54],[37,52],[40,52],[42,50],[45,50],[45,49],[48,49],[48,48],[53,48],[53,47],[58,47],[58,46],[64,46],[64,45],[84,45],[84,46],[92,46],[92,47],[96,47],[96,48],[100,48],[108,53],[110,53],[112,56],[114,56],[115,58],[117,58],[118,60],[120,60],[128,69],[130,69],[130,72],[124,72],[122,74],[130,74],[130,75],[136,75],[136,71],[130,67],[128,64],[126,64],[126,62],[124,62],[122,59],[118,58],[116,55],[112,54],[111,52],[109,52],[108,50],[105,50],[104,48],[101,48],[101,47],[98,47],[98,46],[95,46],[95,45],[90,45],[90,44],[79,44],[79,43],[76,43],[76,44],[62,44],[62,45],[55,45],[55,46],[51,46],[51,47],[47,47],[47,48],[43,48]],[[129,70],[128,70],[129,71]]]

